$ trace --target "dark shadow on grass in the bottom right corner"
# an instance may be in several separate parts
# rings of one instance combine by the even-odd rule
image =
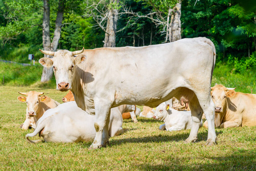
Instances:
[[[204,156],[201,158],[204,161],[194,160],[193,155],[177,157],[166,154],[161,158],[165,161],[163,165],[148,162],[136,166],[139,170],[256,170],[255,150],[234,150],[224,157]],[[180,161],[192,161],[192,164]]]

